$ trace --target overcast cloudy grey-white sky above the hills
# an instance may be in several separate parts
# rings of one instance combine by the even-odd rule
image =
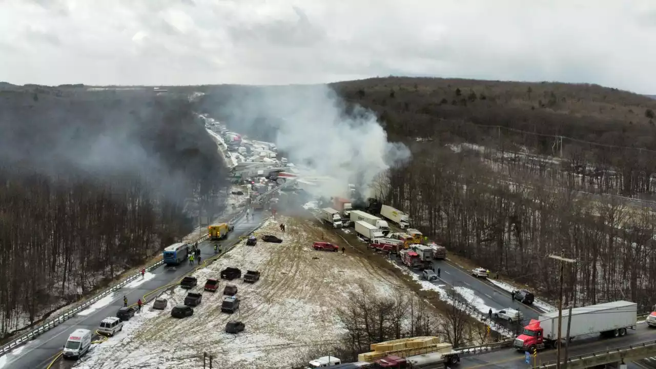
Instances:
[[[0,81],[317,83],[407,75],[656,94],[653,0],[0,0]]]

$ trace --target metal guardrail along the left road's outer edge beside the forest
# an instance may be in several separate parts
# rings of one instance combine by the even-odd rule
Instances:
[[[236,223],[237,221],[239,221],[239,219],[241,217],[243,217],[244,214],[245,214],[245,211],[242,210],[238,215],[236,215],[235,217],[230,219],[230,221],[228,221],[228,223],[231,223],[231,224]],[[205,234],[204,236],[198,238],[195,242],[203,242],[207,238],[208,238],[208,235]],[[161,265],[163,265],[163,263],[164,263],[164,261],[157,261],[157,263],[154,263],[154,264],[152,264],[152,265],[150,265],[150,266],[148,266],[144,269],[146,269],[146,271],[150,272],[154,269],[157,269]],[[96,303],[96,301],[102,299],[103,297],[109,295],[110,293],[113,293],[113,292],[116,292],[117,290],[120,290],[125,285],[129,284],[130,282],[132,282],[136,278],[139,278],[140,276],[141,276],[141,272],[136,272],[135,274],[133,274],[132,276],[129,276],[128,278],[125,278],[124,280],[122,280],[121,282],[116,284],[115,286],[112,286],[112,287],[108,288],[107,290],[104,290],[103,292],[100,292],[97,295],[94,295],[94,297],[91,297],[90,299],[84,301],[83,303],[81,303],[77,307],[73,307],[69,311],[66,311],[66,312],[64,312],[64,313],[62,313],[58,316],[55,316],[54,318],[51,318],[51,319],[47,320],[46,322],[43,322],[43,323],[39,324],[36,328],[33,328],[32,330],[30,330],[30,332],[27,332],[25,334],[22,334],[21,336],[18,336],[16,338],[12,339],[12,341],[9,341],[9,343],[7,343],[6,345],[3,345],[3,347],[0,348],[0,357],[3,356],[3,355],[6,355],[7,353],[12,351],[16,347],[26,343],[27,341],[30,341],[31,339],[34,339],[37,336],[41,336],[41,334],[43,334],[45,332],[48,332],[52,328],[54,328],[54,327],[58,326],[59,324],[61,324],[62,322],[66,322],[66,320],[69,320],[70,318],[73,318],[73,316],[77,315],[77,313],[79,313],[80,311],[83,311],[83,310],[87,309],[87,307],[91,306],[93,303]]]

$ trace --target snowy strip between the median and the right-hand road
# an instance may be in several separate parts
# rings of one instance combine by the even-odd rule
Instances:
[[[472,318],[475,318],[479,322],[488,324],[491,330],[494,330],[495,332],[499,332],[499,334],[501,334],[504,337],[515,337],[514,332],[500,326],[495,322],[491,322],[487,319],[487,311],[490,309],[490,307],[485,305],[483,299],[476,296],[476,294],[469,288],[464,288],[459,286],[453,288],[453,290],[455,290],[455,292],[457,292],[462,297],[462,299],[459,298],[453,299],[451,298],[451,296],[449,296],[449,293],[447,293],[446,284],[428,282],[427,280],[423,280],[418,274],[410,272],[405,267],[401,267],[401,265],[396,263],[396,261],[394,260],[388,260],[388,261],[390,262],[390,264],[394,265],[394,267],[400,269],[403,272],[403,274],[407,274],[408,276],[411,276],[411,278],[413,278],[415,282],[421,285],[421,290],[424,291],[429,290],[429,291],[437,292],[440,295],[440,299],[442,301],[445,301],[449,305],[455,306],[459,310],[465,311],[470,316],[472,316]]]

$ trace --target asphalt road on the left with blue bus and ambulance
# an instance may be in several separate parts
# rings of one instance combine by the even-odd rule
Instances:
[[[257,228],[262,221],[262,213],[255,213],[255,220],[246,221],[244,218],[239,219],[235,224],[234,230],[228,234],[227,240],[222,241],[224,247],[229,246],[232,242],[239,239],[239,236],[249,234],[255,228]],[[199,244],[201,249],[201,259],[206,259],[214,256],[213,244],[209,241],[202,242]],[[182,263],[178,267],[165,267],[161,266],[152,273],[155,274],[155,277],[151,280],[143,282],[139,286],[134,288],[122,288],[118,290],[113,295],[113,301],[109,305],[102,307],[89,315],[77,315],[74,318],[66,320],[56,328],[45,332],[37,339],[31,341],[17,349],[14,353],[9,353],[6,355],[7,362],[3,368],[11,369],[39,369],[46,368],[52,358],[54,358],[68,339],[70,332],[77,328],[86,328],[88,330],[96,330],[100,321],[108,316],[115,316],[116,311],[123,306],[123,295],[127,296],[128,303],[133,304],[138,299],[143,298],[148,292],[155,290],[161,286],[166,286],[172,282],[182,278],[184,274],[192,271],[197,265],[188,265],[188,263]],[[154,298],[157,294],[155,293],[152,297]]]

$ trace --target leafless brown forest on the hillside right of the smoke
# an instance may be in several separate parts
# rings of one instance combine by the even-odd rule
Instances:
[[[565,302],[653,305],[656,218],[602,194],[653,192],[656,101],[560,83],[389,78],[336,88],[411,145],[412,162],[392,169],[377,196],[449,250],[551,297],[559,266],[547,255],[564,252],[581,261],[565,282],[578,293]]]

